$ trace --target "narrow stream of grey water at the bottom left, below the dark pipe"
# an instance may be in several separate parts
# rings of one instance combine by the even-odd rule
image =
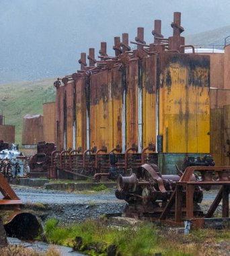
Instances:
[[[26,248],[31,248],[31,249],[34,249],[36,251],[41,251],[41,252],[46,251],[49,247],[48,243],[43,243],[40,241],[34,241],[33,243],[27,243],[27,242],[21,241],[18,238],[13,238],[13,237],[7,237],[7,241],[11,245],[22,245]],[[61,245],[54,245],[54,247],[61,253],[61,256],[83,256],[83,254],[73,251],[73,249],[71,247],[65,247],[65,246],[61,246]]]

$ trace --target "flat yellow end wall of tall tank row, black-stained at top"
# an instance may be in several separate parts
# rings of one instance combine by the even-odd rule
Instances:
[[[159,135],[163,135],[163,152],[209,152],[209,57],[163,53],[160,59]]]

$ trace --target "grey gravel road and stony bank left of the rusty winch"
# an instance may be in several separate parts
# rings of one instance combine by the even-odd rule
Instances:
[[[87,218],[98,219],[104,214],[121,214],[126,205],[118,200],[114,190],[106,193],[76,194],[66,191],[44,190],[34,187],[12,186],[26,209],[42,221],[56,218],[63,225],[81,222]]]

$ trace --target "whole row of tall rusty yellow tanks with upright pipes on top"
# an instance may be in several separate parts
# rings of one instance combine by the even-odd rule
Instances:
[[[82,53],[81,70],[64,77],[63,85],[54,83],[59,150],[91,150],[96,156],[121,148],[141,164],[141,152],[154,144],[162,172],[174,172],[190,154],[209,152],[210,57],[184,53],[180,13],[171,26],[173,36],[163,38],[161,21],[155,20],[151,44],[138,28],[133,51],[128,34],[122,42],[115,37],[114,57],[102,42],[100,61],[89,49],[89,66]]]

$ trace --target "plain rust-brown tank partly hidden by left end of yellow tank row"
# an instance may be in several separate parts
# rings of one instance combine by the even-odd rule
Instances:
[[[44,141],[55,141],[55,115],[56,103],[46,102],[43,104],[43,137]]]

